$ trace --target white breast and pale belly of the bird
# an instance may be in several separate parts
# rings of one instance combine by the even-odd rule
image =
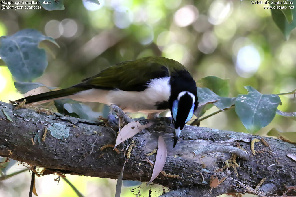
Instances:
[[[157,110],[155,104],[169,99],[169,81],[170,77],[152,79],[147,84],[148,88],[141,92],[89,89],[69,97],[79,101],[115,104],[127,112],[160,113],[164,110]]]

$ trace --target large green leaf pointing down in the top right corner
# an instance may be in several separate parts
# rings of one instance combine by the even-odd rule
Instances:
[[[291,0],[295,5],[296,0]],[[287,1],[286,1],[287,2]],[[291,6],[291,5],[275,5],[270,6]],[[291,11],[290,11],[291,10]],[[288,39],[290,32],[296,27],[296,20],[292,16],[296,16],[296,9],[271,9],[272,19],[279,27],[285,38]]]

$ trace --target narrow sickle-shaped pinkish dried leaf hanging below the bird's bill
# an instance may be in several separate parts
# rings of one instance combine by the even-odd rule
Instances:
[[[163,140],[163,136],[159,136],[155,165],[154,165],[152,176],[151,176],[149,183],[151,183],[159,175],[159,173],[163,170],[163,166],[165,165],[166,157],[167,157],[167,149],[166,149],[165,141]]]

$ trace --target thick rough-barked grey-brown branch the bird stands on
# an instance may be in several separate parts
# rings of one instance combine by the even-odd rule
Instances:
[[[168,149],[163,170],[176,175],[160,174],[153,181],[172,190],[163,196],[217,196],[235,192],[272,196],[282,195],[296,185],[296,161],[286,156],[295,154],[296,145],[272,137],[186,126],[173,149],[173,128],[160,118],[150,128],[120,144],[117,153],[111,147],[100,149],[115,144],[116,121],[102,126],[103,121],[14,107],[0,102],[0,155],[54,172],[116,179],[127,157],[126,148],[133,139],[136,146],[126,162],[123,179],[149,181],[152,169],[143,159],[155,160],[155,154],[146,154],[157,148],[158,136],[162,135]],[[143,124],[147,121],[140,120]],[[269,146],[256,142],[253,155],[253,139],[265,139]],[[239,167],[229,160],[231,153],[239,156],[234,159]],[[211,188],[211,177],[216,176],[225,180],[218,188]],[[264,180],[262,186],[255,189],[261,180]],[[290,189],[289,194],[296,192]]]

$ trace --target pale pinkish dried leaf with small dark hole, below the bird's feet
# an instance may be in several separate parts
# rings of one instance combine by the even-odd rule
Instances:
[[[142,131],[145,128],[148,128],[151,126],[153,123],[147,123],[145,125],[141,125],[139,121],[133,121],[131,123],[128,123],[126,126],[124,126],[118,133],[116,143],[114,148],[120,144],[121,142],[126,141],[127,139],[133,137],[140,131]]]

